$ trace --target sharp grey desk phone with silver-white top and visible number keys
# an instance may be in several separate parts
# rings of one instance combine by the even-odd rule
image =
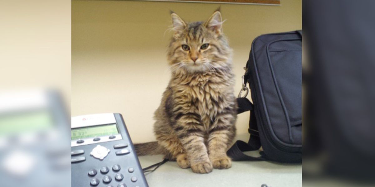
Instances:
[[[121,114],[72,117],[72,187],[148,187]]]

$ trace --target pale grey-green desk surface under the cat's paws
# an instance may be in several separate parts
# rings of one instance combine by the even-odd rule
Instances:
[[[258,156],[256,151],[246,153]],[[141,156],[142,168],[163,160],[162,155]],[[167,162],[145,175],[150,187],[301,187],[302,165],[271,162],[232,162],[229,169],[214,169],[209,174],[195,174]]]

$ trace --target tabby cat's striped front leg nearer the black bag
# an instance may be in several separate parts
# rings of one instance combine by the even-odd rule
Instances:
[[[231,159],[226,156],[226,149],[236,134],[236,116],[233,112],[218,113],[210,126],[208,136],[208,153],[215,169],[228,169],[232,166]]]

